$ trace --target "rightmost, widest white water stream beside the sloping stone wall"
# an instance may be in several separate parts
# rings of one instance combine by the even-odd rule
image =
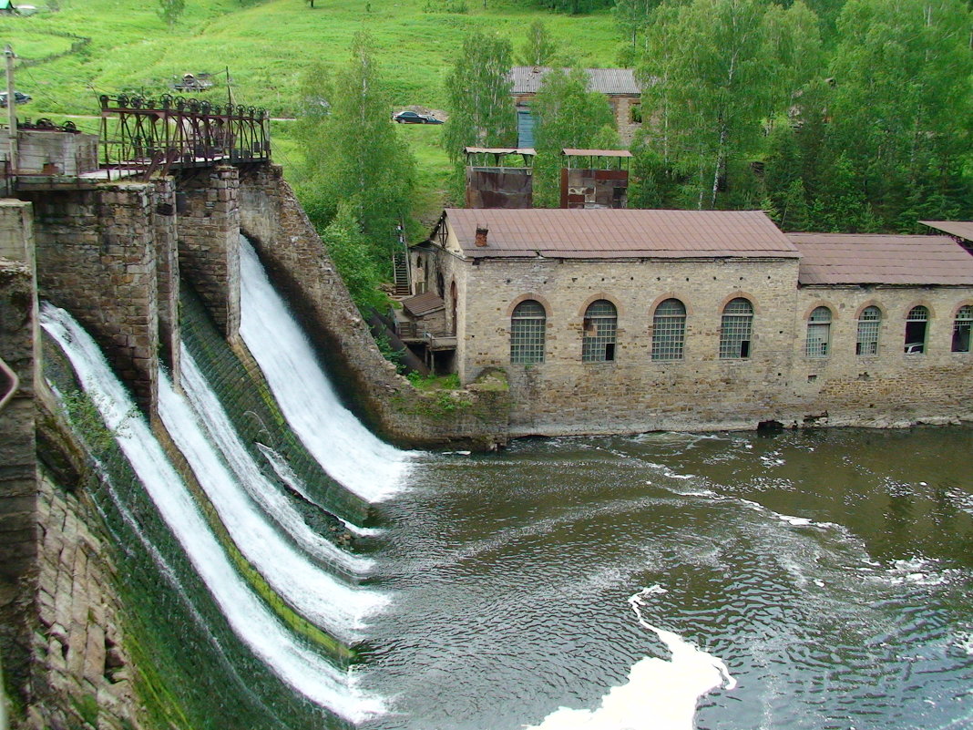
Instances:
[[[325,471],[370,502],[401,489],[409,453],[379,440],[342,406],[245,237],[240,237],[240,335],[288,423]]]

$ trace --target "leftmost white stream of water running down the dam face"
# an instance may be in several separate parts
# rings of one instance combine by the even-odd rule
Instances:
[[[148,423],[129,418],[132,402],[90,336],[64,310],[45,304],[41,324],[67,353],[85,391],[139,476],[162,519],[219,604],[234,633],[270,670],[312,702],[353,722],[384,706],[357,688],[354,677],[297,640],[242,580],[169,463]],[[125,428],[120,426],[125,425]]]

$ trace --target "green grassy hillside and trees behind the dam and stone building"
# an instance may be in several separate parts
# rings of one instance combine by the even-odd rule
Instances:
[[[39,0],[43,3],[44,0]],[[919,232],[973,218],[967,0],[47,0],[0,18],[21,118],[96,128],[101,93],[209,73],[265,107],[284,165],[363,308],[400,231],[461,204],[464,144],[516,144],[503,72],[552,74],[535,204],[561,147],[617,148],[584,67],[643,85],[630,207],[761,208],[785,230]],[[227,76],[230,83],[228,84]],[[232,88],[232,90],[230,88]],[[399,126],[393,111],[447,124]]]

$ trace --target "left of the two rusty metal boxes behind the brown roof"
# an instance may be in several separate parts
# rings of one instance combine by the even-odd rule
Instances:
[[[466,147],[466,207],[529,208],[534,198],[533,160],[528,147]],[[508,166],[520,156],[523,164]],[[491,164],[492,163],[492,164]]]

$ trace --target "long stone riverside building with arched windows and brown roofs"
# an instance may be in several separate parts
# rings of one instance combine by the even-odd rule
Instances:
[[[506,371],[512,435],[973,417],[954,343],[973,257],[879,238],[812,245],[761,212],[450,209],[412,263],[454,318],[460,380]]]

